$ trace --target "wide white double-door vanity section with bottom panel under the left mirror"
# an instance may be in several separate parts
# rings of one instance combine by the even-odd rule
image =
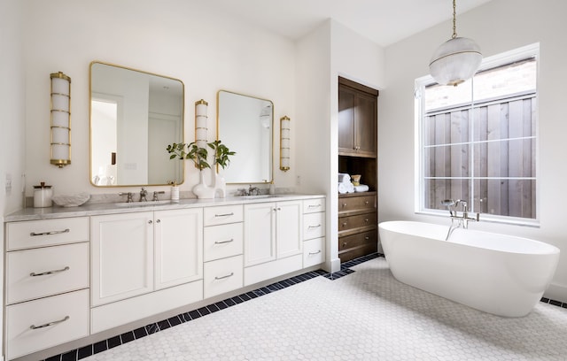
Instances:
[[[93,216],[91,333],[203,298],[203,210]]]

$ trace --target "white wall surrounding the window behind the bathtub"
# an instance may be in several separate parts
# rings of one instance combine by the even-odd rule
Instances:
[[[480,222],[470,227],[516,234],[562,249],[560,264],[546,296],[567,302],[567,237],[564,223],[567,162],[567,3],[547,0],[493,0],[457,18],[457,33],[475,39],[485,56],[540,42],[539,215],[540,227]],[[386,48],[387,86],[380,93],[378,121],[379,221],[415,219],[447,225],[448,219],[414,213],[414,80],[428,72],[432,52],[452,34],[447,21]],[[482,215],[481,215],[482,219]],[[529,267],[530,265],[526,265]]]

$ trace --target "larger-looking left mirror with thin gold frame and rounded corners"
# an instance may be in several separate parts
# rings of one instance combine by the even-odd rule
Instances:
[[[97,187],[183,183],[183,82],[119,65],[90,63],[90,182]]]

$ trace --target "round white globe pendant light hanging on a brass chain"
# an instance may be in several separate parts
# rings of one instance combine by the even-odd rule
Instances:
[[[477,73],[482,54],[474,40],[457,37],[455,1],[453,0],[453,36],[435,50],[429,71],[439,84],[456,87]]]

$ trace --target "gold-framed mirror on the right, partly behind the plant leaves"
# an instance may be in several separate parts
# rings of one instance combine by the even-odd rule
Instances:
[[[227,183],[272,180],[274,104],[266,99],[220,90],[217,140],[237,152],[223,175]]]

